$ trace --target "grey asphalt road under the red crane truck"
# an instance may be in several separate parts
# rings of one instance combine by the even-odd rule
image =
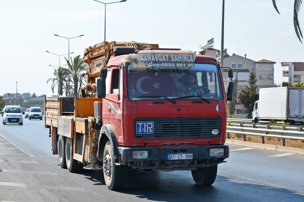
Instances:
[[[23,115],[24,116],[24,115]],[[111,191],[103,171],[69,173],[51,154],[40,120],[0,124],[1,201],[304,201],[304,155],[230,146],[212,186],[190,171],[128,171],[125,189]]]

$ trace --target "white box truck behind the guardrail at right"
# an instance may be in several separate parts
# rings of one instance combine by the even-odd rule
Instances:
[[[252,121],[270,123],[271,120],[291,125],[304,124],[304,88],[260,88],[259,100],[254,103]]]

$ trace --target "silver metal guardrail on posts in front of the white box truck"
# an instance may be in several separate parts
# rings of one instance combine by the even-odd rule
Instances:
[[[304,126],[280,126],[271,124],[254,124],[254,123],[236,123],[230,122],[227,119],[227,139],[230,139],[229,133],[242,134],[244,141],[246,135],[256,135],[262,137],[262,144],[264,144],[264,137],[282,138],[282,146],[285,146],[285,139],[304,140]],[[233,119],[237,120],[237,119]],[[245,119],[246,120],[246,119]],[[247,119],[251,120],[251,119]]]

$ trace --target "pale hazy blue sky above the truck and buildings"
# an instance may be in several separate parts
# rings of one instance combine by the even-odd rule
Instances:
[[[85,48],[104,41],[102,3],[93,0],[0,2],[0,95],[16,93],[16,87],[21,94],[52,95],[52,81],[47,84],[47,79],[54,78],[59,59],[61,66],[66,64],[64,56],[68,57],[64,54],[69,53],[69,48],[70,53],[74,52],[70,57],[83,57]],[[107,4],[106,41],[147,42],[159,44],[160,48],[198,53],[199,45],[214,38],[214,48],[220,49],[222,3],[222,0],[127,0]],[[224,47],[229,55],[247,54],[254,61],[275,61],[274,81],[282,85],[288,78],[282,76],[281,62],[304,62],[304,45],[295,35],[293,1],[277,0],[276,4],[280,15],[271,0],[225,1]],[[299,22],[304,33],[301,13]],[[79,35],[84,36],[76,37]]]

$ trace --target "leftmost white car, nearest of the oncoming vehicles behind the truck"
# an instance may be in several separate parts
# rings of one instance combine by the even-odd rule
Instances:
[[[2,123],[23,124],[22,109],[18,105],[6,105],[3,109]]]

